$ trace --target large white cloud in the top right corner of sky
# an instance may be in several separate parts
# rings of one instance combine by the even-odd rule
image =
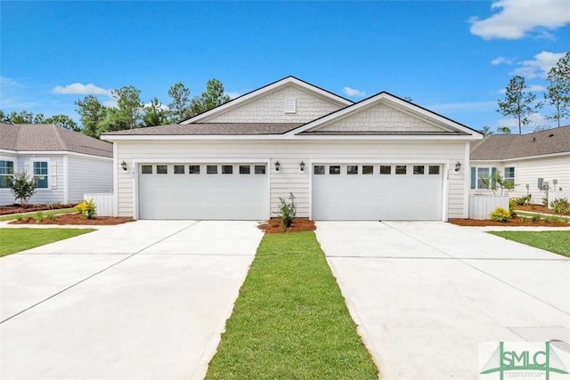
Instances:
[[[555,29],[570,23],[568,0],[500,0],[491,9],[498,12],[485,20],[470,20],[472,34],[484,39],[518,39],[537,28]]]

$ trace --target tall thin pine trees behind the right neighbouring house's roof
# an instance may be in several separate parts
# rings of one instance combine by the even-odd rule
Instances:
[[[518,134],[522,134],[522,127],[530,124],[530,116],[542,109],[545,104],[552,106],[553,112],[546,115],[546,119],[555,120],[560,126],[560,120],[570,117],[570,52],[567,52],[557,64],[550,69],[546,78],[549,85],[543,93],[544,101],[536,101],[536,95],[528,91],[525,78],[521,76],[512,77],[507,85],[505,98],[498,101],[497,112],[506,117],[517,119]],[[536,130],[542,130],[538,126]],[[491,134],[493,131],[489,126],[481,130],[484,134]],[[510,133],[508,126],[497,129],[499,133]]]

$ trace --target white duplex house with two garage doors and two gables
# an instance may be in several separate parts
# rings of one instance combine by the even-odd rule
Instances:
[[[481,138],[390,93],[354,103],[296,77],[179,125],[102,135],[118,215],[197,220],[274,217],[289,193],[314,220],[467,217]]]

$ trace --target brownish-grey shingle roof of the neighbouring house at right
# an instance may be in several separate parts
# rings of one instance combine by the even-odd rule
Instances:
[[[570,125],[527,134],[489,134],[471,142],[470,159],[509,159],[570,153]]]

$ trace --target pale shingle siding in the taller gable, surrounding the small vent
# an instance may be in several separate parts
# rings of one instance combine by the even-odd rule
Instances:
[[[285,112],[285,101],[288,99],[295,100],[295,112]],[[343,107],[346,105],[309,93],[296,85],[289,85],[200,122],[240,123],[248,120],[248,123],[306,123]]]

